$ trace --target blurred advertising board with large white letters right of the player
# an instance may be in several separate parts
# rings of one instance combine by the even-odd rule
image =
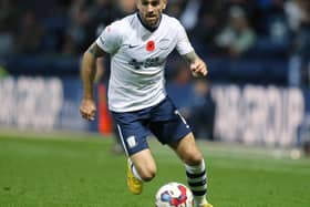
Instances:
[[[297,87],[216,85],[215,136],[249,145],[294,146],[307,114],[306,92]]]

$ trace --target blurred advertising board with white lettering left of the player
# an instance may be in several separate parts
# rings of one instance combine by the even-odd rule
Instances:
[[[27,77],[0,80],[0,126],[19,130],[90,130],[80,118],[78,79]]]

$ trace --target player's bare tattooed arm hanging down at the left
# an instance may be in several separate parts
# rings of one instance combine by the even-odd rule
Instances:
[[[93,121],[96,106],[94,101],[94,79],[96,74],[96,59],[104,55],[104,51],[93,43],[83,54],[81,64],[81,77],[83,83],[83,100],[80,113],[83,118]]]

